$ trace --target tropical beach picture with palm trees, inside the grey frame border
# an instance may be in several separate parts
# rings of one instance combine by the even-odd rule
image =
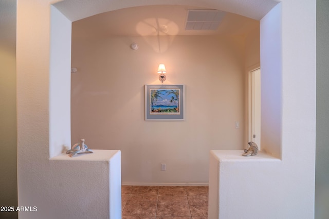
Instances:
[[[180,89],[150,89],[150,114],[180,114]]]

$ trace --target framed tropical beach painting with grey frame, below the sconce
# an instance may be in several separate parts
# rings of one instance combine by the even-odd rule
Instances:
[[[145,120],[185,120],[184,85],[145,85]]]

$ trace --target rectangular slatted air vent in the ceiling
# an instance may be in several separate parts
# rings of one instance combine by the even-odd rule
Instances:
[[[185,30],[216,30],[225,14],[218,10],[189,10]]]

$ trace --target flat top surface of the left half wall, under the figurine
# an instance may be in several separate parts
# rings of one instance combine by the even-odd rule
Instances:
[[[73,157],[61,154],[50,158],[51,161],[109,161],[120,150],[93,150],[94,153],[81,153]]]

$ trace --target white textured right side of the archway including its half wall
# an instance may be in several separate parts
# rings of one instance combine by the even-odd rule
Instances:
[[[316,4],[294,3],[278,4],[261,20],[262,150],[269,153],[213,151],[211,218],[314,218]],[[246,211],[246,203],[257,211]]]

